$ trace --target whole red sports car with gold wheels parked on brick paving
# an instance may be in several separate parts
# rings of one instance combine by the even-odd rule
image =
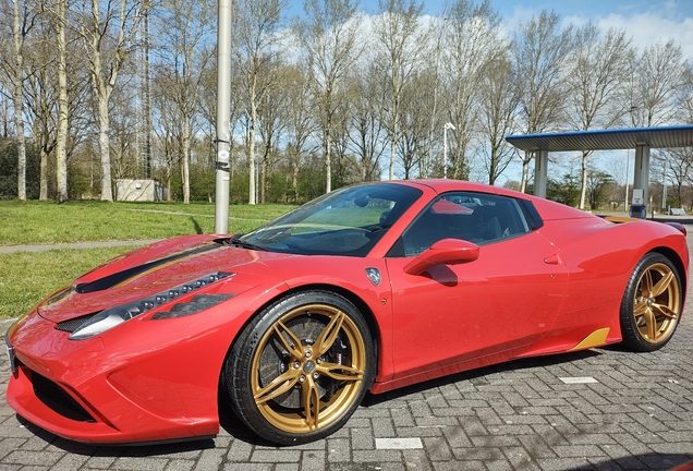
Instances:
[[[257,435],[305,443],[367,390],[662,347],[685,298],[682,232],[469,182],[344,188],[244,235],[136,250],[49,295],[7,334],[7,398],[81,442],[214,436],[228,402]]]

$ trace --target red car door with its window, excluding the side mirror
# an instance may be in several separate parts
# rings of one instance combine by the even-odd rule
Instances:
[[[523,210],[526,203],[450,193],[403,232],[386,257],[394,378],[434,377],[503,361],[549,331],[568,275],[557,247],[534,230],[537,222]],[[448,238],[477,244],[478,258],[417,275],[405,271],[423,251]]]

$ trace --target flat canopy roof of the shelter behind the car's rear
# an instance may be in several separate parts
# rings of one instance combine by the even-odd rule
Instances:
[[[574,131],[506,136],[521,150],[611,150],[648,145],[653,148],[693,147],[693,125]]]

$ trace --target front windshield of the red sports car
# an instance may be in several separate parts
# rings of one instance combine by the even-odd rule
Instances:
[[[270,252],[366,256],[421,194],[391,183],[349,186],[229,242]]]

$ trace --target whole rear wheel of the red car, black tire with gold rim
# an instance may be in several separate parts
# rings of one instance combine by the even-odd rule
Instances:
[[[621,301],[623,345],[655,351],[673,336],[683,309],[679,271],[666,256],[646,254],[635,266]]]

